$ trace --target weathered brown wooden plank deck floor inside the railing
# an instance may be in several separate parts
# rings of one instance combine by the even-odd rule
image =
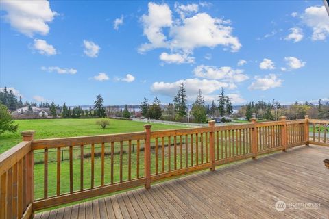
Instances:
[[[329,148],[301,146],[215,172],[38,213],[34,218],[329,218]],[[275,208],[285,203],[320,207]]]

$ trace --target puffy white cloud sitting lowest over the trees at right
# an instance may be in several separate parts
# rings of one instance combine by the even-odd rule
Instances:
[[[270,88],[280,87],[282,84],[282,79],[278,79],[277,75],[269,74],[265,75],[265,77],[254,78],[256,81],[252,82],[249,86],[249,90],[268,90]]]

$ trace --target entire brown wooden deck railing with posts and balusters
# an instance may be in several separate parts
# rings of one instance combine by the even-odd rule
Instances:
[[[256,159],[293,146],[329,146],[328,120],[286,120],[243,125],[33,140],[0,155],[0,218],[145,186],[196,170]],[[311,135],[313,133],[313,135]],[[24,215],[23,215],[24,214]]]

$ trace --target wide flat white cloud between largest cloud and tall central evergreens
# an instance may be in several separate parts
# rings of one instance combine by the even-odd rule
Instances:
[[[193,70],[197,77],[204,77],[207,79],[216,79],[221,81],[228,81],[231,83],[242,82],[249,77],[243,74],[243,70],[234,70],[230,66],[216,67],[216,66],[196,66]]]

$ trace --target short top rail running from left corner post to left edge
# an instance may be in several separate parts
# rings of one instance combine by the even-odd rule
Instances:
[[[31,145],[30,141],[24,141],[0,154],[0,176],[29,153]]]

